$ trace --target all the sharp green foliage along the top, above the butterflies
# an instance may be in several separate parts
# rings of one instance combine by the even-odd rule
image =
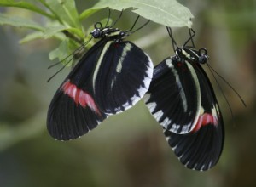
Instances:
[[[21,43],[50,37],[61,40],[60,46],[49,53],[50,59],[59,58],[60,60],[65,57],[65,54],[67,56],[79,48],[84,41],[88,41],[90,30],[84,29],[81,22],[102,8],[120,11],[132,8],[133,12],[165,26],[190,27],[190,18],[193,18],[189,9],[175,0],[162,0],[161,3],[157,0],[100,0],[81,14],[79,14],[74,0],[0,0],[0,6],[24,8],[46,17],[47,21],[42,26],[33,20],[0,14],[0,25],[32,29],[33,32],[20,40]],[[88,28],[91,29],[92,26]],[[90,44],[87,47],[90,47]]]

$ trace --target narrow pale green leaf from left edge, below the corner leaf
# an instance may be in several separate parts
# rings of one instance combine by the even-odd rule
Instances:
[[[20,17],[13,17],[2,13],[0,13],[0,25],[26,27],[33,30],[44,31],[44,27],[38,25],[38,23],[32,20],[26,20]]]

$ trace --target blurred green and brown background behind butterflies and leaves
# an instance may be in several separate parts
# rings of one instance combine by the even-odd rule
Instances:
[[[76,1],[79,12],[92,1]],[[218,165],[201,173],[183,167],[166,143],[160,125],[143,101],[108,120],[80,139],[56,141],[46,130],[50,99],[70,71],[47,69],[49,51],[58,42],[38,40],[24,45],[19,39],[26,29],[0,26],[0,186],[2,187],[153,187],[153,186],[256,186],[256,2],[240,0],[180,1],[195,15],[195,45],[205,47],[210,65],[230,82],[247,102],[220,79],[229,99],[234,120],[220,89],[212,84],[223,111],[224,151]],[[31,16],[18,8],[1,12]],[[114,13],[113,17],[117,17]],[[108,16],[102,10],[84,21],[90,26]],[[118,23],[130,28],[136,14],[125,11]],[[141,20],[142,24],[145,20]],[[139,25],[139,24],[138,24]],[[187,28],[174,29],[179,45],[188,37]],[[173,54],[166,28],[150,23],[128,38],[143,48],[154,64]],[[209,77],[210,74],[208,74]]]

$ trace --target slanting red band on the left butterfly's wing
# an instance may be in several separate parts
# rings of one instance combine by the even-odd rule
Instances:
[[[94,99],[82,89],[77,88],[75,84],[67,80],[61,88],[65,94],[73,99],[76,105],[81,105],[83,108],[88,105],[92,111],[95,111],[98,115],[101,116],[101,112],[99,111],[98,107]]]

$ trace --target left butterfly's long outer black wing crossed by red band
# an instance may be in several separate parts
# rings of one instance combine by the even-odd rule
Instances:
[[[53,138],[76,139],[107,118],[91,88],[92,72],[105,43],[101,40],[90,48],[56,91],[47,116],[47,128]]]

